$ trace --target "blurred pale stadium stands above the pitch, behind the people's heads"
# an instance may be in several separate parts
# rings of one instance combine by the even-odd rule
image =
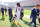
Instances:
[[[18,2],[27,10],[32,9],[32,7],[37,4],[40,5],[40,0],[0,0],[0,7],[8,7],[9,5],[12,5],[14,8]]]

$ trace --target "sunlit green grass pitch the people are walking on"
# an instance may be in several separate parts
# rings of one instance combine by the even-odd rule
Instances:
[[[14,10],[12,12],[14,13]],[[28,26],[28,23],[31,21],[29,18],[30,14],[31,14],[31,10],[24,10],[23,20],[19,20],[19,23],[21,26],[17,25],[17,20],[15,24],[13,24],[9,22],[9,16],[4,15],[4,18],[2,18],[2,15],[1,15],[0,16],[0,27],[33,27],[32,25]],[[12,22],[13,22],[13,19],[12,19]],[[36,23],[37,23],[36,27],[40,27],[40,24],[38,23],[38,19],[36,20]]]

